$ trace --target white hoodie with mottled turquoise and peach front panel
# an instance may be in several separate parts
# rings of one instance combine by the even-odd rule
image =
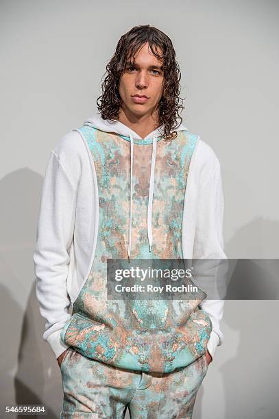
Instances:
[[[169,372],[223,342],[223,301],[106,299],[109,258],[226,257],[213,149],[183,125],[166,143],[160,128],[140,138],[95,114],[51,152],[34,266],[56,357],[73,346],[121,368]]]

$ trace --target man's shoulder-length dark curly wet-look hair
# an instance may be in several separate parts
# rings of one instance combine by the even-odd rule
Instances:
[[[156,27],[134,26],[121,36],[114,55],[106,65],[108,75],[104,74],[106,78],[101,84],[103,94],[97,98],[97,108],[103,119],[117,120],[119,118],[121,97],[118,86],[120,77],[125,71],[126,63],[134,64],[137,51],[146,42],[158,60],[162,60],[162,71],[164,72],[163,94],[158,104],[159,126],[163,125],[164,127],[164,132],[160,132],[160,135],[165,140],[173,140],[177,137],[177,132],[174,129],[180,127],[182,123],[179,111],[184,109],[183,99],[180,98],[181,73],[179,64],[175,60],[175,50],[171,39]],[[158,49],[161,49],[162,55]],[[179,125],[178,119],[180,120]]]

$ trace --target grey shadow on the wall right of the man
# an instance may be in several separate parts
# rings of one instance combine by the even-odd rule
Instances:
[[[239,259],[228,274],[218,360],[226,419],[278,417],[278,236],[278,221],[258,217],[225,249],[232,257],[254,258]]]

